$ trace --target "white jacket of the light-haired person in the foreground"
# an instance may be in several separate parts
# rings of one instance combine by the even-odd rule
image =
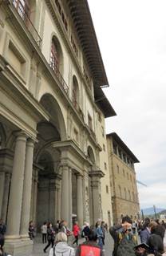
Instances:
[[[49,250],[49,256],[53,256],[53,248]],[[75,251],[67,242],[58,242],[55,246],[55,256],[75,256]]]

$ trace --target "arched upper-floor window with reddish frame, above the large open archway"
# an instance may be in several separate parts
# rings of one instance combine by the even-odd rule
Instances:
[[[51,35],[50,41],[50,56],[49,56],[49,65],[53,69],[56,75],[58,71],[63,75],[64,60],[63,60],[63,51],[61,49],[61,43],[57,39],[57,35],[54,33]]]

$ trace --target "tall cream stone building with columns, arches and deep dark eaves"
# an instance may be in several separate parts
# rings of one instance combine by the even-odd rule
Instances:
[[[111,222],[105,67],[86,0],[0,2],[0,215],[30,255],[29,221]]]

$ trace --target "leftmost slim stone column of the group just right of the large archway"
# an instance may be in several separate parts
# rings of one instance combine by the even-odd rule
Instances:
[[[62,166],[61,172],[61,218],[69,223],[69,167]]]

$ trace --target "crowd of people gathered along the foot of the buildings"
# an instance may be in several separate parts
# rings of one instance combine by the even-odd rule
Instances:
[[[113,256],[166,256],[165,230],[164,221],[149,218],[132,221],[128,216],[109,230],[105,221],[100,219],[95,226],[85,222],[80,227],[74,221],[73,230],[69,230],[65,220],[57,221],[56,225],[45,221],[41,226],[41,242],[46,244],[44,253],[49,249],[49,256],[104,256],[105,233],[109,231],[114,241],[113,248],[110,248]],[[5,234],[6,225],[0,220],[0,256],[7,255],[3,252]],[[30,221],[29,236],[32,240],[36,236],[33,221]],[[84,241],[81,239],[78,243],[79,238],[84,238]]]

